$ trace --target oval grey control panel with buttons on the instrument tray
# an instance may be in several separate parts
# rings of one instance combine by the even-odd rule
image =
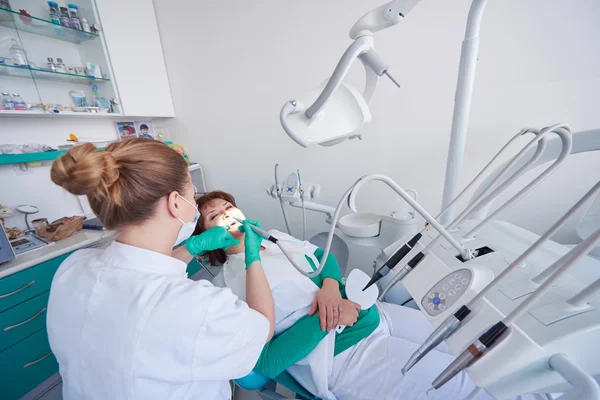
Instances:
[[[423,309],[435,317],[454,305],[471,285],[473,273],[469,269],[452,271],[436,283],[421,300]]]

